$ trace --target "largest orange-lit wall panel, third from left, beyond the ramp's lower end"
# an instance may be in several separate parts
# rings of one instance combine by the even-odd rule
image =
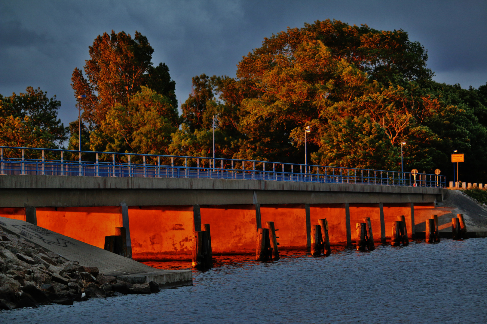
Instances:
[[[190,260],[193,206],[129,206],[135,260]]]

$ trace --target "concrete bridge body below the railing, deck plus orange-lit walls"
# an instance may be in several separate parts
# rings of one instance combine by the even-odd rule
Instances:
[[[332,244],[351,244],[370,217],[377,241],[404,215],[408,234],[448,190],[430,187],[269,180],[0,175],[0,216],[16,218],[103,248],[127,230],[137,260],[190,259],[192,233],[211,226],[214,254],[255,253],[256,229],[274,222],[280,247],[306,249],[310,228],[329,223]]]

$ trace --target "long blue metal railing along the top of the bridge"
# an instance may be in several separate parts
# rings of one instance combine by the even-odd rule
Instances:
[[[26,151],[29,153],[28,158]],[[72,158],[77,156],[78,160],[65,159],[66,153],[71,154]],[[49,159],[46,158],[47,154]],[[88,156],[91,161],[83,160],[82,155],[85,155],[85,159]],[[133,163],[134,160],[137,163]],[[7,146],[0,146],[0,174],[247,179],[433,188],[445,188],[446,185],[445,176],[425,173],[197,156]]]

